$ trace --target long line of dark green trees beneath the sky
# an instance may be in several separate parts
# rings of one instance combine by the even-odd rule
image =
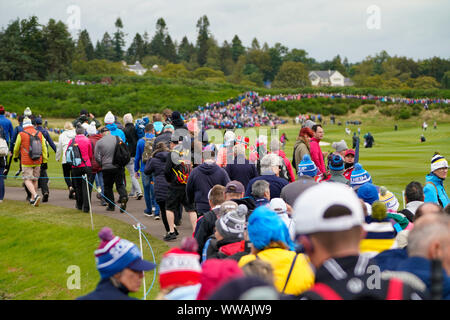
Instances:
[[[15,20],[0,31],[0,79],[64,79],[80,74],[126,74],[121,62],[140,61],[147,68],[160,66],[160,75],[173,78],[196,78],[242,85],[273,87],[309,86],[310,70],[338,70],[350,77],[355,86],[378,88],[450,88],[450,59],[433,57],[415,61],[390,56],[382,51],[361,62],[350,63],[336,55],[319,62],[303,49],[275,43],[270,47],[254,38],[244,46],[238,35],[221,45],[212,35],[206,15],[197,21],[197,39],[191,43],[184,36],[174,41],[163,18],[156,21],[155,33],[136,33],[125,47],[122,20],[115,31],[105,32],[92,43],[87,30],[76,40],[67,26],[50,19],[40,25],[37,17]]]

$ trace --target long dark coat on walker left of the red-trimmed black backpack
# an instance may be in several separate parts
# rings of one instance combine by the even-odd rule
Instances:
[[[155,198],[156,201],[165,201],[167,198],[167,191],[169,190],[169,183],[164,175],[164,169],[166,167],[168,151],[161,151],[153,154],[153,158],[147,161],[145,165],[144,174],[154,178]]]

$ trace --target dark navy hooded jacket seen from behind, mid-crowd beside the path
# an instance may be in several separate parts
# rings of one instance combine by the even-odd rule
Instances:
[[[186,195],[189,202],[195,203],[198,212],[207,212],[210,209],[208,193],[216,184],[226,186],[230,182],[228,173],[215,163],[202,163],[189,175],[186,184]]]

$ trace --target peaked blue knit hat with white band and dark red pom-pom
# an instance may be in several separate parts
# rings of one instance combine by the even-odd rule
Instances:
[[[95,250],[95,262],[102,279],[110,278],[125,268],[148,271],[156,267],[154,263],[142,260],[141,251],[132,242],[114,236],[108,227],[98,233],[102,240]]]

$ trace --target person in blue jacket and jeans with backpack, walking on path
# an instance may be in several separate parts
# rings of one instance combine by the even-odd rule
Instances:
[[[144,201],[145,209],[144,215],[148,217],[155,217],[155,220],[159,219],[160,210],[158,203],[155,199],[154,178],[152,175],[145,174],[145,166],[152,158],[155,141],[153,124],[148,123],[144,127],[144,137],[139,139],[136,146],[136,156],[134,158],[134,171],[136,178],[139,178],[139,172],[142,174],[142,186],[144,187]],[[155,208],[153,212],[153,209]]]

